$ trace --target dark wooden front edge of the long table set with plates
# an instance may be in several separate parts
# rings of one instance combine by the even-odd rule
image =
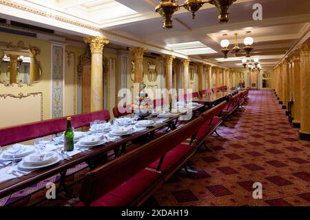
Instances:
[[[204,106],[200,104],[197,107],[193,107],[189,111],[196,112],[196,111],[203,111],[203,109]],[[115,140],[114,142],[106,142],[105,144],[94,146],[89,149],[90,151],[84,151],[84,152],[81,151],[79,153],[72,155],[71,159],[61,159],[61,161],[52,166],[32,170],[30,173],[28,173],[28,175],[22,175],[19,178],[8,179],[2,182],[0,181],[0,199],[57,174],[61,175],[58,190],[60,189],[65,190],[66,188],[65,178],[67,177],[67,170],[69,168],[73,168],[84,162],[88,162],[90,159],[93,159],[98,155],[108,153],[109,151],[114,151],[115,157],[119,157],[120,149],[122,147],[124,148],[128,143],[134,140],[137,140],[141,137],[149,137],[150,139],[152,139],[154,138],[154,133],[156,133],[156,131],[159,131],[165,127],[171,130],[176,129],[176,122],[173,121],[176,121],[180,117],[180,115],[185,114],[186,114],[185,112],[178,112],[174,113],[174,115],[170,118],[158,118],[158,117],[149,118],[150,120],[154,120],[154,122],[156,122],[154,126],[147,127],[142,131],[131,133],[129,135],[124,135]],[[122,153],[125,152],[122,151]],[[6,168],[6,166],[0,167],[0,170],[3,168]]]

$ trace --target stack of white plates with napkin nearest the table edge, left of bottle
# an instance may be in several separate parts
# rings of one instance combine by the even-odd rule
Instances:
[[[21,162],[19,162],[19,168],[25,170],[32,170],[37,168],[43,168],[45,166],[51,166],[58,163],[61,160],[58,153],[52,151],[43,151],[41,154],[32,153],[25,156]]]

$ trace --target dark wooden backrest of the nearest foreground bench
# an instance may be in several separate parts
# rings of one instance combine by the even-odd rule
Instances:
[[[175,146],[194,135],[203,124],[203,118],[189,122],[180,129],[171,131],[134,151],[87,173],[82,183],[80,199],[85,206],[90,206],[116,186],[143,170],[149,164],[165,155]]]

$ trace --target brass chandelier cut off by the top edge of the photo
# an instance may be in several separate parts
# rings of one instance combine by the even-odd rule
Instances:
[[[229,21],[229,14],[227,13],[229,6],[236,0],[186,0],[183,5],[178,5],[178,0],[161,0],[159,5],[155,8],[156,12],[161,14],[163,17],[163,28],[171,29],[173,28],[172,16],[174,12],[184,7],[189,12],[192,12],[192,17],[195,19],[195,13],[203,6],[205,3],[210,3],[215,5],[218,9],[218,22]]]

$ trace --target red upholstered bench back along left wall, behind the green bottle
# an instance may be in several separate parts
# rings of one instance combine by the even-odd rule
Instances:
[[[72,115],[72,126],[80,128],[88,126],[94,120],[110,120],[110,113],[107,110]],[[67,126],[66,117],[52,120],[43,120],[17,126],[10,126],[0,129],[0,146],[16,144],[38,137],[44,137],[65,131]]]

